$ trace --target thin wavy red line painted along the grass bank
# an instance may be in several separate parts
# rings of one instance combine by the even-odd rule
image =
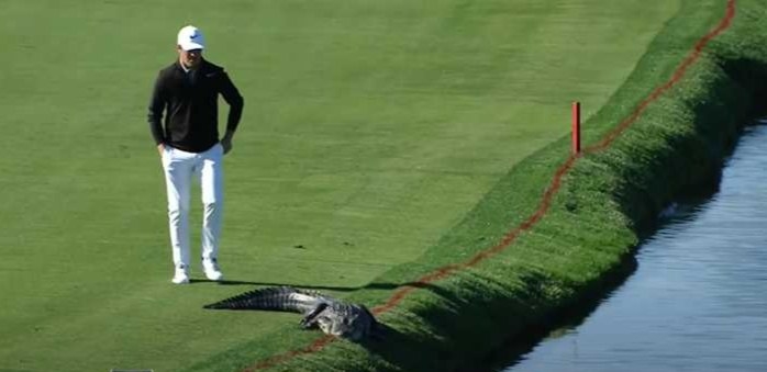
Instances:
[[[666,93],[677,82],[679,82],[679,80],[681,80],[681,78],[687,72],[688,68],[692,66],[692,64],[694,64],[696,60],[698,60],[698,58],[700,58],[703,48],[709,44],[709,42],[711,42],[714,37],[719,36],[722,32],[730,27],[730,25],[732,24],[732,20],[735,18],[735,2],[736,0],[727,0],[726,13],[724,18],[720,21],[719,25],[696,43],[692,50],[688,54],[685,60],[682,60],[679,67],[677,67],[677,69],[674,71],[674,75],[668,81],[666,81],[663,86],[656,88],[647,98],[642,100],[642,102],[640,102],[640,104],[636,106],[636,109],[634,109],[631,115],[624,119],[615,128],[610,131],[610,133],[608,133],[607,136],[602,138],[602,140],[600,140],[596,145],[591,145],[585,148],[582,153],[570,155],[570,157],[567,158],[565,164],[559,166],[556,173],[554,173],[552,183],[548,185],[546,192],[543,195],[543,200],[541,201],[538,208],[530,217],[527,217],[527,219],[525,219],[521,225],[519,225],[514,229],[507,233],[501,239],[501,241],[483,251],[480,251],[468,261],[442,267],[420,278],[415,281],[413,285],[401,286],[400,289],[394,291],[394,293],[391,295],[391,297],[389,297],[389,301],[387,301],[386,304],[374,307],[373,313],[378,315],[394,308],[397,305],[399,305],[400,302],[402,302],[402,300],[404,300],[404,297],[408,296],[408,294],[415,291],[418,286],[420,286],[420,284],[427,284],[442,280],[458,270],[474,267],[477,263],[500,253],[505,248],[508,248],[520,236],[520,234],[535,226],[541,221],[541,218],[543,218],[546,212],[548,212],[554,195],[562,188],[563,178],[570,169],[573,169],[573,165],[575,164],[575,161],[580,156],[582,156],[582,154],[597,153],[608,148],[615,140],[615,138],[618,138],[621,134],[623,134],[623,132],[625,132],[632,124],[636,122],[636,120],[642,115],[642,113],[644,113],[645,110],[647,110],[651,103],[656,101],[660,95]],[[281,354],[276,354],[270,358],[264,359],[244,369],[242,372],[253,372],[267,369],[286,362],[298,356],[318,352],[334,340],[335,338],[333,338],[332,336],[323,336],[305,348],[290,350]]]

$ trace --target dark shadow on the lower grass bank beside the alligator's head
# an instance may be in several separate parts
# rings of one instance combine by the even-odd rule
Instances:
[[[501,371],[521,361],[524,354],[532,351],[547,336],[582,324],[631,277],[636,267],[635,257],[627,255],[619,267],[586,284],[586,288],[578,289],[574,297],[557,302],[553,307],[545,305],[549,300],[544,295],[551,280],[535,272],[524,275],[526,290],[518,292],[519,296],[515,298],[470,294],[474,290],[479,293],[479,288],[470,288],[464,294],[456,294],[433,283],[398,284],[397,286],[405,285],[430,291],[442,298],[442,306],[430,306],[419,312],[419,317],[427,319],[426,327],[432,332],[400,331],[386,327],[380,340],[368,340],[362,346],[405,371],[426,371],[435,368],[460,372]],[[464,285],[470,286],[471,282],[474,281],[467,280]],[[389,284],[377,284],[380,285]],[[508,337],[501,337],[499,340],[497,334],[486,334],[498,332],[491,329],[503,327],[501,325],[509,326]],[[435,342],[435,339],[442,341]],[[481,342],[498,343],[498,347],[489,354],[478,354],[471,350],[471,346]],[[465,354],[458,356],[464,353],[462,350]],[[434,360],[429,360],[430,358],[437,358],[440,362],[435,363]],[[467,361],[474,362],[467,364]]]

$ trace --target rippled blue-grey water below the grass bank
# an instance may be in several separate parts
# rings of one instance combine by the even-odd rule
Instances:
[[[582,324],[504,372],[767,371],[767,125],[749,127],[720,191],[682,207]]]

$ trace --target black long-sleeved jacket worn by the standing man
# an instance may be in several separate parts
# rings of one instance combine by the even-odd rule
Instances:
[[[192,72],[179,61],[159,71],[149,102],[149,128],[157,145],[202,153],[219,143],[219,93],[230,105],[226,131],[236,129],[244,102],[222,67],[202,59],[197,71],[188,74]]]

